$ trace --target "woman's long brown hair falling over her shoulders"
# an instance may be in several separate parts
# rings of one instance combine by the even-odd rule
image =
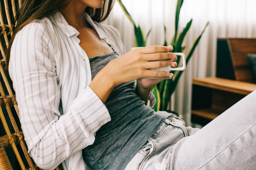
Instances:
[[[114,1],[115,0],[104,0],[102,8],[95,9],[87,7],[85,12],[90,15],[92,20],[102,22],[108,17]],[[72,0],[23,0],[21,7],[17,10],[17,15],[13,22],[16,22],[16,25],[13,27],[13,36],[10,39],[6,50],[7,68],[10,60],[11,46],[15,35],[31,21],[53,14],[57,10],[65,9],[71,3]]]

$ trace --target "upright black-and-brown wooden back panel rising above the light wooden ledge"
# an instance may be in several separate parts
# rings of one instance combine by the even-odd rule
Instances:
[[[216,77],[253,83],[248,53],[256,54],[256,39],[218,39]]]

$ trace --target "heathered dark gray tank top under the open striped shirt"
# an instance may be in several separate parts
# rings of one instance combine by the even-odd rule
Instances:
[[[92,79],[117,58],[116,52],[89,58]],[[121,170],[169,116],[155,112],[135,93],[134,81],[116,86],[105,105],[111,121],[103,125],[92,145],[82,150],[86,164],[95,170]]]

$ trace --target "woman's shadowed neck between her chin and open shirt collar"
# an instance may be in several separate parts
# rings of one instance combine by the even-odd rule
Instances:
[[[69,25],[75,28],[87,27],[87,24],[84,21],[84,11],[86,7],[87,6],[80,2],[73,1],[69,7],[60,12]]]

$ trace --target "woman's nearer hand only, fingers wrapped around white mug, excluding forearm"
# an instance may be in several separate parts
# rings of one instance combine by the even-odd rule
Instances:
[[[134,49],[125,55],[110,61],[101,71],[113,80],[113,85],[130,82],[142,77],[167,77],[169,72],[151,71],[171,65],[172,46],[150,46]],[[169,59],[167,61],[154,61]],[[154,61],[154,62],[150,62]]]

